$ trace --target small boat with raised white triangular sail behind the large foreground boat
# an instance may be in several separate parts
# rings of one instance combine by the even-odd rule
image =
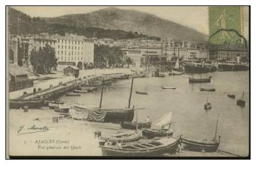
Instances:
[[[164,136],[172,136],[173,129],[170,128],[172,125],[172,112],[167,113],[161,118],[157,119],[157,121],[153,122],[151,125],[151,129],[142,129],[143,137],[148,137],[150,139],[154,137],[164,137]]]

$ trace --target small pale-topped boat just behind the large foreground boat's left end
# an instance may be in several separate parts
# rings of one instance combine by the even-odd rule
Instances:
[[[133,142],[142,138],[142,131],[133,131],[129,133],[113,134],[111,136],[101,136],[99,145],[104,145],[105,142],[111,142],[111,145],[116,145],[117,142]]]

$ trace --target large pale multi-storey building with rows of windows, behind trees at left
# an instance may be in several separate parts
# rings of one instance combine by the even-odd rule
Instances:
[[[67,65],[83,63],[93,63],[94,43],[93,40],[79,35],[27,35],[21,38],[23,45],[27,46],[25,57],[29,57],[31,50],[39,50],[46,44],[55,49],[55,56],[58,61],[58,71],[62,71]]]

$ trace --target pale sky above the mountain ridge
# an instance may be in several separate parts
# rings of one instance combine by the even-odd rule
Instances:
[[[108,6],[16,6],[13,7],[16,10],[22,11],[31,17],[57,17],[66,14],[83,14],[90,13],[92,11],[101,10],[107,8]],[[205,6],[190,6],[190,7],[180,7],[180,6],[162,6],[162,7],[152,7],[152,6],[117,6],[117,8],[123,10],[137,10],[146,13],[154,14],[155,16],[167,19],[176,23],[180,23],[184,26],[189,26],[190,28],[196,29],[199,32],[208,34],[208,11]],[[248,11],[246,11],[248,13]],[[245,22],[248,25],[248,15],[245,16]],[[248,30],[248,27],[245,30]],[[245,32],[248,34],[248,32]],[[248,37],[248,35],[246,36]]]

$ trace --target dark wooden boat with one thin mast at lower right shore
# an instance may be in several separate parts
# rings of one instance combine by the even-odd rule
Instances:
[[[182,137],[182,143],[186,145],[185,148],[193,151],[202,151],[202,150],[207,152],[217,151],[220,144],[220,136],[219,136],[219,139],[216,138],[218,122],[219,122],[219,115],[217,116],[217,123],[216,123],[216,129],[215,129],[213,140],[189,140],[189,139],[184,139]]]

